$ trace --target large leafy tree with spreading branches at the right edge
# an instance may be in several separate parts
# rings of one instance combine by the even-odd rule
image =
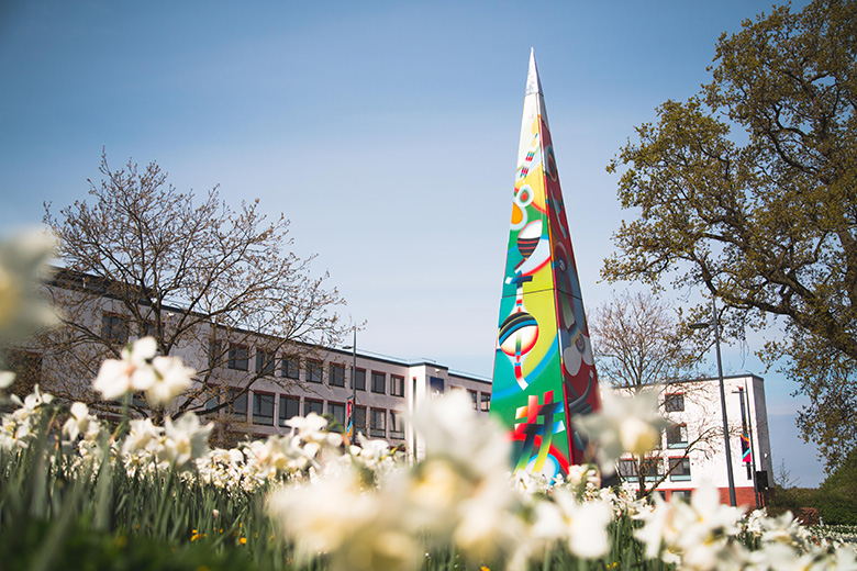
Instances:
[[[761,356],[809,398],[803,438],[834,467],[857,445],[857,2],[775,8],[722,35],[714,64],[608,166],[638,217],[602,275],[784,326]]]

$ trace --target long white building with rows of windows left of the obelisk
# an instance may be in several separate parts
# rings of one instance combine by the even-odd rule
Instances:
[[[91,276],[58,270],[46,284],[57,309],[79,325],[65,352],[49,339],[19,349],[11,361],[23,366],[31,382],[68,400],[98,399],[91,391],[97,367],[114,357],[130,340],[155,329],[145,305],[137,316],[110,294],[114,284]],[[94,295],[93,295],[94,293]],[[179,307],[162,309],[163,334],[170,335],[181,317]],[[70,317],[74,316],[74,317]],[[194,315],[196,325],[180,336],[170,355],[200,371],[200,381],[185,395],[203,422],[216,422],[218,436],[232,444],[249,435],[266,437],[290,430],[288,421],[314,412],[335,419],[335,429],[347,422],[347,405],[356,401],[357,433],[401,445],[420,454],[421,444],[405,422],[408,413],[434,393],[466,391],[474,408],[488,415],[491,381],[450,371],[429,361],[408,361],[367,351],[324,348],[285,342],[237,327],[212,325]],[[57,333],[57,336],[62,333]],[[60,339],[62,337],[56,337]],[[73,365],[78,365],[75,367]],[[204,378],[203,378],[204,377]],[[356,380],[356,391],[353,389]],[[249,385],[249,389],[242,390]],[[135,413],[147,414],[143,395],[135,395]],[[100,413],[114,417],[118,405],[101,401]]]

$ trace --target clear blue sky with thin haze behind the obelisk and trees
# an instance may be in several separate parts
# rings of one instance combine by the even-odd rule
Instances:
[[[803,5],[797,2],[795,5]],[[709,79],[722,32],[769,1],[0,4],[0,227],[86,198],[101,148],[180,190],[283,212],[367,322],[361,349],[490,377],[531,46],[589,307],[623,213],[604,167]],[[692,293],[691,293],[692,295]],[[677,303],[686,300],[671,294]],[[754,343],[747,348],[757,349]],[[802,485],[793,387],[766,378],[775,464]],[[713,370],[713,369],[712,369]]]

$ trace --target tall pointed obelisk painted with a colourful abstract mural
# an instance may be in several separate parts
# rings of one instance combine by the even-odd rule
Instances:
[[[563,191],[531,52],[490,414],[509,428],[513,469],[553,477],[566,474],[570,463],[589,460],[570,419],[600,407]]]

